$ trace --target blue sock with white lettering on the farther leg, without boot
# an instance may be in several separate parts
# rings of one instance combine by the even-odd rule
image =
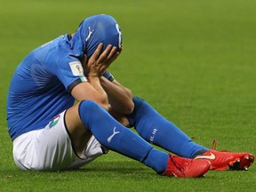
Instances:
[[[158,114],[145,100],[133,98],[135,108],[128,120],[140,136],[178,156],[191,158],[200,150],[209,150],[193,142],[177,126]]]

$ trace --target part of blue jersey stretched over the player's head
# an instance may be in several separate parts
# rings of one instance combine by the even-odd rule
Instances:
[[[103,43],[101,52],[108,44],[116,46],[118,52],[122,41],[121,28],[116,20],[109,15],[100,14],[83,20],[69,43],[76,56],[83,57],[86,54],[90,58],[100,43]]]

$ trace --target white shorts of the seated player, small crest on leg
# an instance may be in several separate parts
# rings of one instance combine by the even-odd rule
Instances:
[[[13,140],[13,157],[20,170],[75,169],[108,152],[92,136],[84,149],[84,156],[78,157],[65,127],[65,112],[55,116],[44,129],[26,132]]]

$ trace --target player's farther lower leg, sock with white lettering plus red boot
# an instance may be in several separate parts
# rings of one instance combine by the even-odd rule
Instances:
[[[208,159],[213,170],[246,170],[254,156],[249,153],[220,152],[204,148],[193,142],[177,126],[158,114],[145,100],[133,98],[135,108],[127,116],[141,137],[179,156]],[[202,155],[202,156],[198,156]]]

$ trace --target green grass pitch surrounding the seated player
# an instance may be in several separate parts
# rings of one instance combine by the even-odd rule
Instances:
[[[156,175],[110,152],[76,172],[20,172],[12,160],[5,103],[12,73],[40,44],[108,13],[124,34],[110,71],[196,142],[256,154],[256,38],[253,0],[0,2],[1,191],[255,191],[256,168],[204,179]]]

